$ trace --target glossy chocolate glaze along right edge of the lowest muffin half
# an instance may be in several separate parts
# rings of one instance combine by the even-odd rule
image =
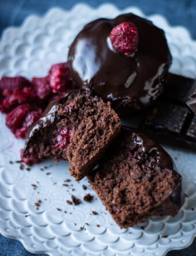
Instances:
[[[156,142],[151,140],[143,130],[130,128],[127,126],[122,126],[121,133],[130,133],[131,136],[135,137],[134,142],[138,145],[142,145],[142,150],[145,153],[151,153],[152,151],[156,151],[156,158],[157,158],[157,164],[160,167],[160,170],[169,169],[176,173],[176,166],[174,161],[171,159],[171,156],[168,155],[168,153]],[[182,189],[182,177],[179,175],[179,182],[176,185],[176,188],[174,191],[170,192],[169,195],[172,202],[174,202],[178,209],[183,205],[184,199],[186,198],[186,195],[183,192]]]

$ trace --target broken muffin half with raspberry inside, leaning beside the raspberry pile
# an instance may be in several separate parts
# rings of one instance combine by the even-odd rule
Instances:
[[[50,103],[29,130],[23,158],[37,162],[68,160],[70,174],[81,180],[120,131],[111,104],[82,89]]]

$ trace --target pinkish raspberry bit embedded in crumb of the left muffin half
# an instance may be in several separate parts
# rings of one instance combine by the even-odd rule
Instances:
[[[58,129],[54,139],[53,148],[65,148],[70,143],[70,138],[73,136],[73,131],[67,128]]]

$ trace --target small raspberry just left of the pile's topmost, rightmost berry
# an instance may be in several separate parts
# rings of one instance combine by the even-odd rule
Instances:
[[[32,87],[40,100],[48,100],[52,95],[49,80],[49,76],[43,78],[32,78]]]

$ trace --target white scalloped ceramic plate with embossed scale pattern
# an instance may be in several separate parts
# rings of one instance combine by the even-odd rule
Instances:
[[[137,8],[118,10],[107,4],[92,9],[80,4],[69,12],[52,9],[44,17],[28,17],[20,28],[8,28],[2,36],[0,76],[20,74],[31,78],[46,75],[51,64],[66,61],[68,46],[85,23],[126,12],[144,16]],[[173,56],[171,71],[194,78],[196,42],[186,28],[171,27],[157,14],[147,18],[166,32]],[[134,228],[120,229],[86,179],[77,183],[71,178],[67,182],[69,186],[62,185],[66,178],[70,178],[67,163],[57,165],[48,160],[33,166],[31,171],[20,170],[19,163],[10,164],[10,160],[20,159],[19,151],[24,141],[14,138],[5,126],[5,115],[2,114],[0,141],[0,231],[3,236],[20,240],[28,251],[50,255],[151,256],[165,255],[167,251],[187,247],[193,241],[196,234],[195,153],[166,148],[183,176],[184,189],[189,196],[179,214],[175,218],[152,217]],[[40,170],[44,166],[48,169]],[[31,184],[36,184],[36,188]],[[83,184],[88,186],[86,191],[82,189]],[[92,203],[83,200],[89,192],[94,196]],[[82,203],[78,206],[67,204],[71,194],[82,199]],[[34,203],[39,199],[42,203],[36,210]],[[98,214],[93,215],[92,210]],[[161,237],[163,235],[168,237]]]

